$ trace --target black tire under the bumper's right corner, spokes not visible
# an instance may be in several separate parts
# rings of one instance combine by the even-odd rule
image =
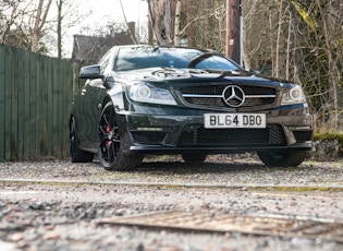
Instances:
[[[301,165],[308,157],[308,152],[304,151],[258,152],[257,155],[266,166],[295,167]]]

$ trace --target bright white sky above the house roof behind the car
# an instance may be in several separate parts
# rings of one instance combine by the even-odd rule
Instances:
[[[85,34],[83,27],[89,27],[96,29],[106,25],[109,21],[118,21],[124,23],[123,12],[120,4],[120,0],[75,0],[79,2],[79,12],[89,13],[85,19],[69,29],[66,34],[66,40],[64,41],[65,56],[71,57],[73,35]],[[147,1],[144,0],[122,0],[123,9],[127,19],[127,22],[135,22],[136,27],[146,25],[147,17]],[[93,34],[85,34],[93,35]]]

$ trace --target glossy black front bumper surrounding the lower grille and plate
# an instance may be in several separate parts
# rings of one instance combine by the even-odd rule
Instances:
[[[205,129],[204,113],[184,110],[150,115],[120,115],[137,154],[244,153],[260,151],[310,151],[313,116],[302,109],[269,110],[264,129]],[[158,112],[156,112],[158,113]]]

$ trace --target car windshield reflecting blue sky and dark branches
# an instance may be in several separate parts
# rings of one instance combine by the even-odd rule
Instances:
[[[142,46],[119,49],[114,71],[145,68],[194,68],[219,71],[240,69],[235,63],[219,56],[219,53],[205,53],[191,48]]]

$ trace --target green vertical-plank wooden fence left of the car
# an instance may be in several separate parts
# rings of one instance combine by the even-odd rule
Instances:
[[[0,160],[68,156],[73,69],[0,45]]]

